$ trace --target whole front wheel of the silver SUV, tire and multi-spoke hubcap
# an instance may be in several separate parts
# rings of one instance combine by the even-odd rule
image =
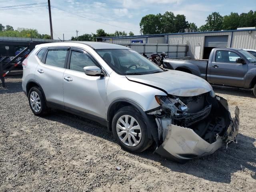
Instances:
[[[112,120],[112,132],[118,144],[130,152],[142,152],[152,144],[142,116],[131,106],[116,112]]]

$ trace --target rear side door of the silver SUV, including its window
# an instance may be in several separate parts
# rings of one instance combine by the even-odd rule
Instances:
[[[69,47],[50,47],[39,62],[35,76],[46,100],[64,106],[63,74],[66,70]]]

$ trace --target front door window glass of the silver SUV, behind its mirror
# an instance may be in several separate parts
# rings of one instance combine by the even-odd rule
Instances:
[[[87,53],[72,51],[70,56],[70,70],[84,72],[84,67],[96,66]]]

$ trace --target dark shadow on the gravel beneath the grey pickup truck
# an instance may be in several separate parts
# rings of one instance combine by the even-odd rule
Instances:
[[[229,88],[225,86],[216,86],[212,85],[212,88],[216,94],[227,94],[232,96],[241,96],[241,97],[250,97],[255,98],[252,90],[250,89],[238,89],[238,88]]]

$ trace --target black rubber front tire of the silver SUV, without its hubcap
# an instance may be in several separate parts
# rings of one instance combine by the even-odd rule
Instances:
[[[118,137],[117,130],[116,130],[116,127],[117,127],[116,124],[117,124],[118,119],[123,115],[132,116],[133,118],[136,119],[136,121],[140,125],[142,136],[141,136],[141,140],[137,146],[132,146],[132,147],[127,146]],[[114,115],[114,118],[112,120],[112,132],[113,132],[114,138],[117,141],[117,143],[124,150],[127,150],[132,153],[140,153],[140,152],[146,150],[148,147],[150,147],[150,145],[153,143],[153,141],[150,138],[148,138],[148,130],[146,128],[146,124],[145,124],[144,120],[142,119],[141,114],[139,112],[137,112],[135,110],[135,108],[133,108],[132,106],[123,107],[120,110],[118,110],[118,112],[116,112],[116,114]]]

